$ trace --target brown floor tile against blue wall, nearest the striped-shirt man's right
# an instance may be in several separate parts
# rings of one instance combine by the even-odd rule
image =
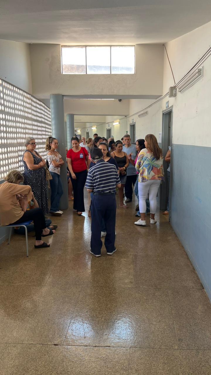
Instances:
[[[187,255],[133,255],[135,285],[155,288],[200,288]]]

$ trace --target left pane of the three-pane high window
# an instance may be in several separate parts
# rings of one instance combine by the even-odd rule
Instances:
[[[62,47],[62,73],[86,74],[86,47]]]

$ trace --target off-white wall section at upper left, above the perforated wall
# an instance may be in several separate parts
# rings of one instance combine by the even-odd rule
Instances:
[[[28,44],[0,39],[0,78],[32,93]]]

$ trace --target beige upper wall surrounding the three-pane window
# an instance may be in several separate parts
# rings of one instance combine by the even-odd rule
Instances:
[[[33,95],[161,95],[163,46],[136,45],[136,74],[61,74],[59,44],[30,45]]]

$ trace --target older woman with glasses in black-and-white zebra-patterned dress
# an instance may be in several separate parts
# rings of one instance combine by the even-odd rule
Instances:
[[[24,185],[29,185],[44,215],[49,212],[47,185],[45,179],[45,160],[35,150],[36,142],[32,137],[26,138],[26,151],[23,155]]]

